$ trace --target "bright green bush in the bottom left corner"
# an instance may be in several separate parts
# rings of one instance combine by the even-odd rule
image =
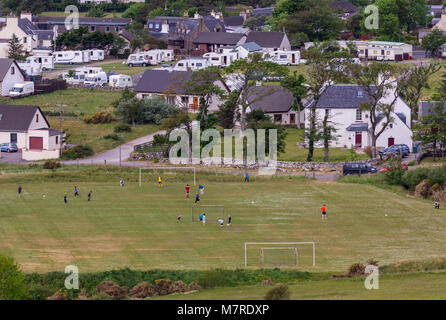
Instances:
[[[0,300],[28,298],[26,276],[12,257],[0,255]]]

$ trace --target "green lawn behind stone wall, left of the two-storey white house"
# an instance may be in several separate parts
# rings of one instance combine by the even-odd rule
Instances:
[[[279,160],[281,161],[306,161],[308,155],[308,149],[298,147],[298,142],[303,142],[304,130],[289,128],[287,130],[286,147],[285,152],[279,154]],[[329,161],[351,161],[352,155],[350,150],[344,150],[342,148],[330,148]],[[366,154],[357,154],[355,160],[366,160],[369,158]],[[316,148],[314,151],[314,161],[324,161],[324,150],[322,148]]]

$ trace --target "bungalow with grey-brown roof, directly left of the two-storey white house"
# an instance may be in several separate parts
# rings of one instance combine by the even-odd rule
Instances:
[[[248,113],[263,110],[274,122],[282,125],[296,126],[297,111],[292,109],[294,97],[290,91],[281,86],[256,86],[248,94],[250,107]],[[300,123],[304,123],[304,112],[300,113]]]

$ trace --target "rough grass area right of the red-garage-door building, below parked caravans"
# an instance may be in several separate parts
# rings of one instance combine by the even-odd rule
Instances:
[[[65,112],[62,128],[67,132],[68,144],[86,144],[93,148],[95,153],[117,147],[120,143],[111,139],[104,139],[105,135],[113,133],[114,127],[119,123],[113,121],[107,124],[86,124],[84,116],[98,111],[114,112],[110,106],[112,102],[121,97],[119,91],[101,91],[93,89],[68,88],[48,94],[29,96],[22,99],[10,100],[3,98],[4,103],[38,105],[43,112],[51,112],[47,116],[52,128],[59,129],[59,116],[55,114],[60,109]],[[158,130],[155,125],[140,125],[129,133],[122,133],[122,141],[127,142],[138,137],[151,134]]]

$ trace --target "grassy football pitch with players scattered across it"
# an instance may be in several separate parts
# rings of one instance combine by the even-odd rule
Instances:
[[[70,182],[39,177],[33,182],[28,176],[20,182],[21,197],[19,182],[0,178],[0,253],[14,256],[25,272],[63,271],[67,265],[80,272],[235,269],[244,267],[245,242],[315,242],[315,267],[310,248],[297,248],[298,268],[306,271],[345,271],[370,258],[384,265],[445,256],[445,211],[403,193],[372,185],[289,178],[248,184],[241,177],[200,175],[193,186],[192,175],[187,181],[176,179],[174,172],[162,175],[161,188],[154,175],[144,176],[141,187],[135,178],[122,188],[115,177],[101,182],[77,182],[74,175]],[[186,183],[190,199],[185,198]],[[223,205],[223,227],[217,222],[219,211],[212,209],[199,210],[206,212],[205,225],[198,215],[191,221],[200,183],[205,192],[199,205]],[[322,204],[327,221],[321,220]],[[252,248],[248,267],[259,268],[259,261],[259,247]]]

